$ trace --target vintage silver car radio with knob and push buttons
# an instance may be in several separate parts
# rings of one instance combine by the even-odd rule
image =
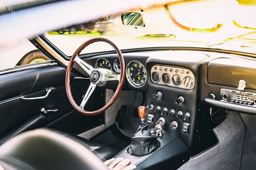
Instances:
[[[221,101],[256,107],[256,93],[221,89]]]

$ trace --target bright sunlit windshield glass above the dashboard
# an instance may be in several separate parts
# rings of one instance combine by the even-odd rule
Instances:
[[[44,36],[67,56],[93,37],[108,38],[120,49],[177,46],[256,53],[256,1],[177,1],[134,11],[143,14],[144,27],[124,26],[118,13],[46,32]],[[111,46],[99,42],[81,53],[110,50]]]

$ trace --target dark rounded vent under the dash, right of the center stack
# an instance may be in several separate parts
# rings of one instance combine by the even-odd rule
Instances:
[[[214,124],[220,124],[227,115],[227,110],[212,106],[210,109],[210,115]]]

